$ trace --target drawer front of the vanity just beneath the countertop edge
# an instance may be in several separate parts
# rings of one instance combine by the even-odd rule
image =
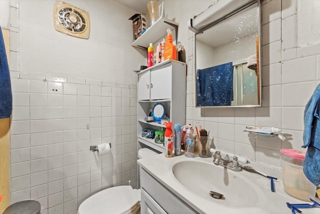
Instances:
[[[141,188],[167,213],[198,213],[140,167]],[[141,198],[141,204],[143,203]],[[142,211],[142,210],[141,210]],[[142,212],[141,212],[142,213]]]

